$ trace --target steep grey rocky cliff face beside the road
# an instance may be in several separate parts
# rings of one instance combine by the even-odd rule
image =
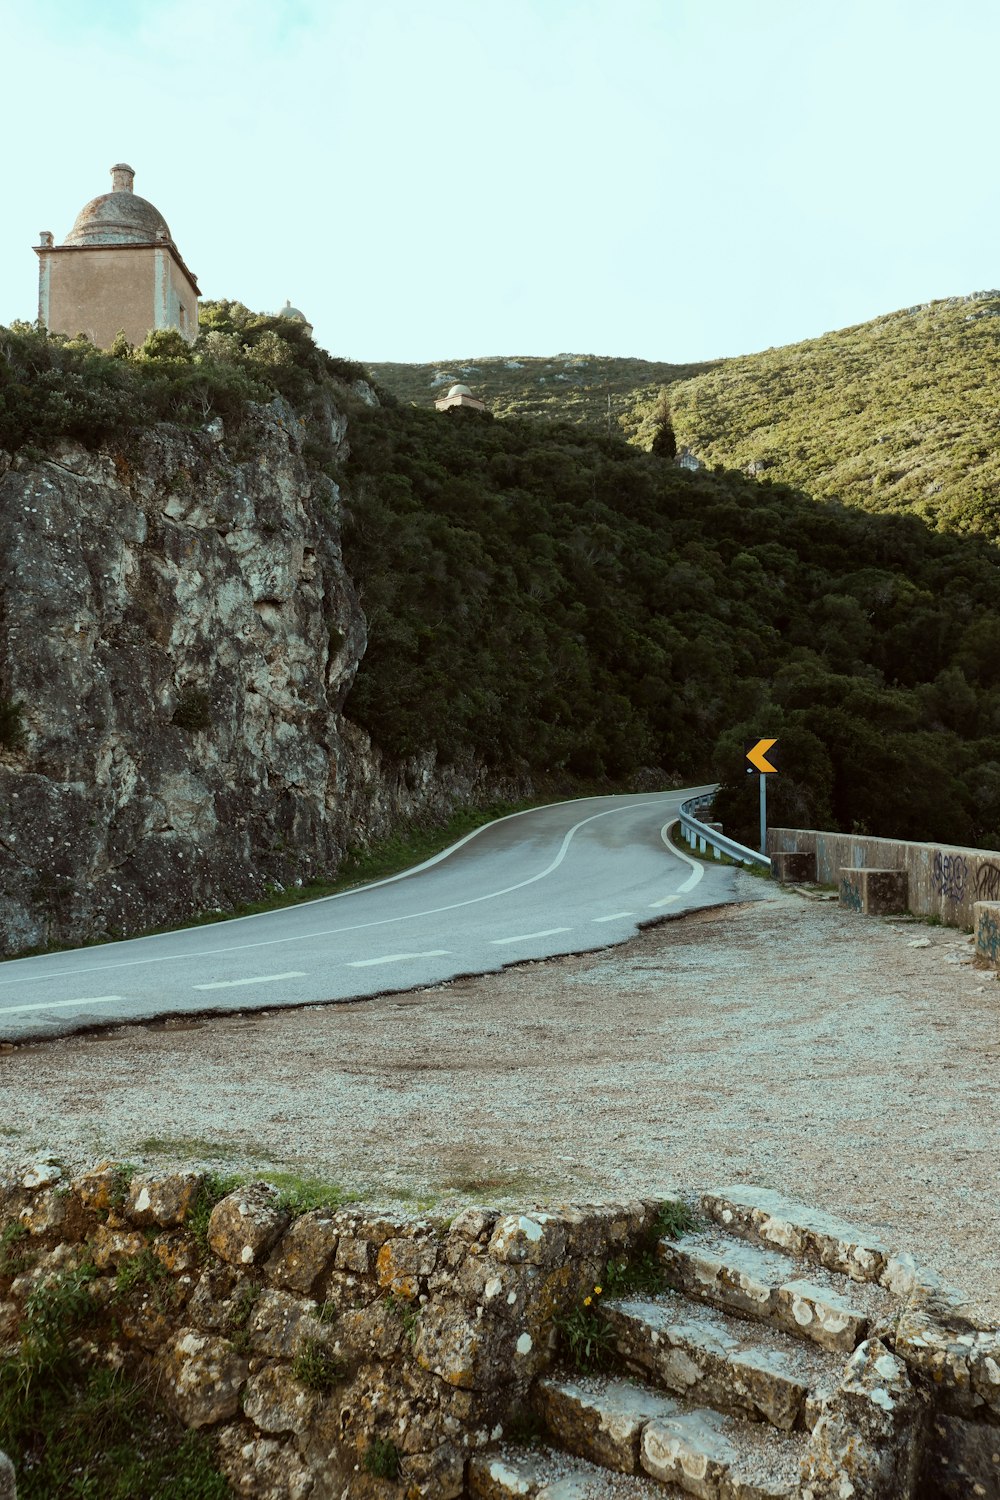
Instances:
[[[7,714],[0,951],[228,909],[475,794],[343,717],[366,624],[303,441],[274,400],[234,435],[0,452],[0,706],[24,730]]]

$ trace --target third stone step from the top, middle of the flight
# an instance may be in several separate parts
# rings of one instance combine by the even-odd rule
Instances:
[[[844,1368],[814,1344],[678,1296],[603,1311],[619,1358],[643,1378],[786,1432],[816,1425]]]

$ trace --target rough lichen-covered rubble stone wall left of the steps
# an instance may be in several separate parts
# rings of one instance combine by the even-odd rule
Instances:
[[[292,1216],[265,1184],[208,1215],[195,1173],[102,1164],[64,1180],[40,1164],[0,1180],[0,1354],[25,1300],[82,1264],[97,1358],[156,1377],[160,1396],[216,1440],[234,1491],[259,1500],[384,1496],[364,1455],[393,1443],[408,1500],[463,1494],[552,1362],[553,1317],[589,1292],[610,1254],[648,1233],[657,1204],[499,1214],[450,1226],[349,1208]],[[123,1275],[124,1269],[124,1275]],[[330,1389],[301,1378],[301,1356]],[[10,1455],[16,1464],[18,1455]]]

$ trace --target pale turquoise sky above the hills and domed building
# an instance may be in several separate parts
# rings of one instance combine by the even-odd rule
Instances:
[[[742,354],[1000,282],[996,0],[0,0],[0,324],[129,162],[361,362]]]

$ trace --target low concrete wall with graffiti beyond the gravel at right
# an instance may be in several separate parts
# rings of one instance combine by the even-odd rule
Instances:
[[[949,927],[973,927],[975,902],[1000,900],[1000,852],[955,844],[906,843],[867,834],[813,828],[768,830],[768,854],[816,855],[816,879],[838,885],[841,868],[906,870],[910,910],[940,916]]]

